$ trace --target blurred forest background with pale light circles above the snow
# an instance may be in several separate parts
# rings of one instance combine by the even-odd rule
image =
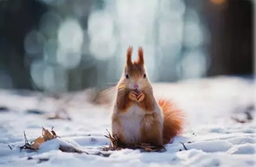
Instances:
[[[1,0],[0,88],[78,91],[118,82],[129,45],[152,82],[253,76],[252,1]]]

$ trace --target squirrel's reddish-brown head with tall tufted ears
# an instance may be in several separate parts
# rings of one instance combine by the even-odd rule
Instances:
[[[129,46],[127,49],[126,64],[124,66],[120,84],[125,87],[125,89],[131,89],[137,92],[146,88],[151,88],[144,65],[143,48],[138,48],[137,60],[133,62],[132,51],[133,47]]]

